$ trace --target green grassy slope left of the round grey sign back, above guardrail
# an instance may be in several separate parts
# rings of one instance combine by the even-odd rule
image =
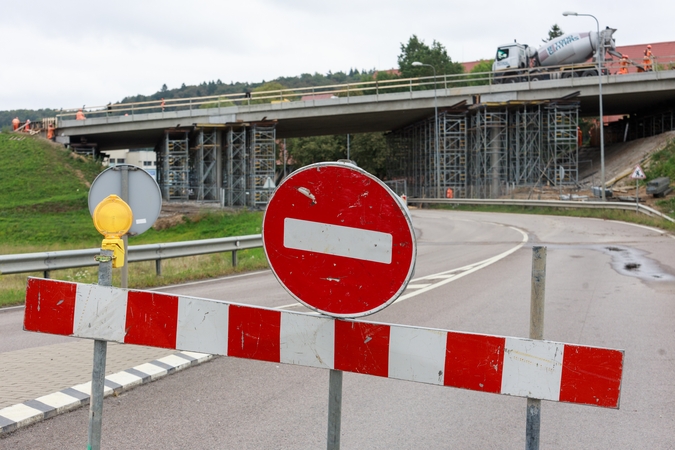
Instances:
[[[96,242],[87,195],[100,170],[62,145],[0,133],[0,248]]]

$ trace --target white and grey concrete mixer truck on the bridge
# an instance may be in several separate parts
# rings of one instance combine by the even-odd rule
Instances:
[[[616,51],[612,35],[616,29],[606,28],[598,34],[567,33],[535,50],[526,44],[513,42],[497,49],[492,64],[495,83],[518,83],[521,81],[554,80],[558,78],[597,76],[595,62],[588,62],[600,46],[600,66],[603,75],[609,71],[603,67],[605,54],[621,58]]]

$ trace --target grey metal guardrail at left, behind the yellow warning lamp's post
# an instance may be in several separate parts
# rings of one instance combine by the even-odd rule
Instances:
[[[161,275],[161,262],[163,259],[232,252],[232,266],[236,266],[238,250],[259,247],[262,247],[262,235],[260,234],[163,244],[130,245],[127,251],[127,261],[154,260],[157,275]],[[0,255],[0,275],[43,272],[44,277],[49,278],[49,272],[52,270],[97,266],[98,263],[94,260],[94,256],[100,252],[101,250],[98,248],[90,248],[85,250]]]

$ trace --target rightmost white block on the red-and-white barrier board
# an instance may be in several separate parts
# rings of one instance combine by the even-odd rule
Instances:
[[[565,344],[506,338],[502,394],[558,401]]]

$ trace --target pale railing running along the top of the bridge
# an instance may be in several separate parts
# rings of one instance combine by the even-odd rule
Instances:
[[[641,60],[631,61],[632,66],[641,66]],[[579,64],[579,67],[588,66],[588,63]],[[566,67],[569,67],[566,66]],[[574,67],[574,65],[572,65]],[[620,68],[619,60],[610,60],[605,64],[611,75],[615,75]],[[549,71],[555,71],[557,67],[549,67]],[[653,69],[675,69],[675,55],[655,56]],[[634,70],[634,69],[633,69]],[[418,78],[394,78],[390,80],[359,81],[356,83],[333,84],[326,86],[314,86],[303,88],[288,88],[270,91],[252,91],[235,94],[208,95],[189,98],[164,98],[143,102],[109,103],[107,105],[91,106],[84,108],[87,118],[106,116],[135,116],[136,114],[164,113],[169,111],[193,111],[209,108],[226,108],[231,106],[248,106],[256,104],[283,104],[290,102],[315,102],[317,100],[330,101],[340,98],[360,97],[371,95],[376,97],[380,94],[396,92],[428,91],[433,89],[443,90],[443,95],[455,88],[468,86],[495,84],[495,74],[492,72],[461,73],[452,75],[438,75],[437,77],[426,76]],[[532,75],[514,75],[500,77],[504,82],[535,82],[537,77]],[[76,118],[81,108],[62,110],[57,115],[58,120],[72,120]]]

